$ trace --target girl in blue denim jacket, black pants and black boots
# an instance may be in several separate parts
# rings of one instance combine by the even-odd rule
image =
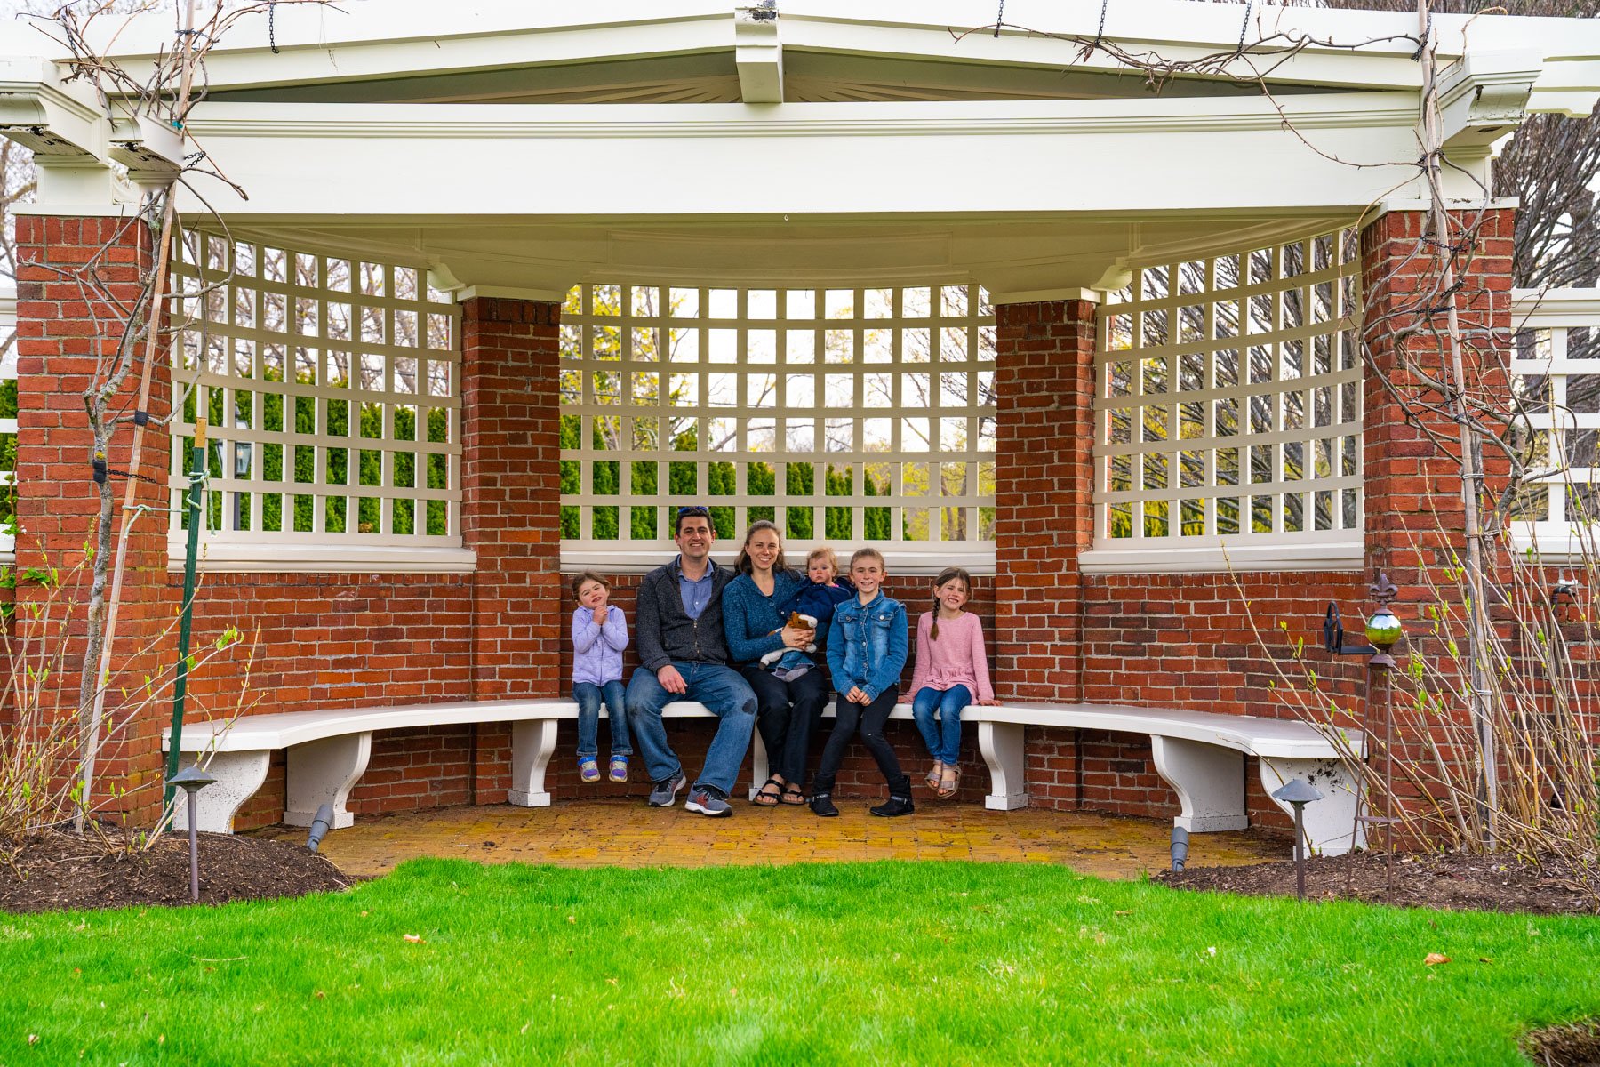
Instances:
[[[899,675],[907,651],[906,608],[878,590],[885,574],[883,553],[877,549],[859,549],[850,557],[856,595],[834,609],[827,630],[827,665],[838,689],[838,718],[811,784],[811,811],[824,817],[838,814],[830,795],[834,776],[858,728],[890,785],[888,803],[872,808],[872,814],[893,817],[914,811],[910,781],[901,773],[894,749],[883,739],[883,723],[899,699]]]

